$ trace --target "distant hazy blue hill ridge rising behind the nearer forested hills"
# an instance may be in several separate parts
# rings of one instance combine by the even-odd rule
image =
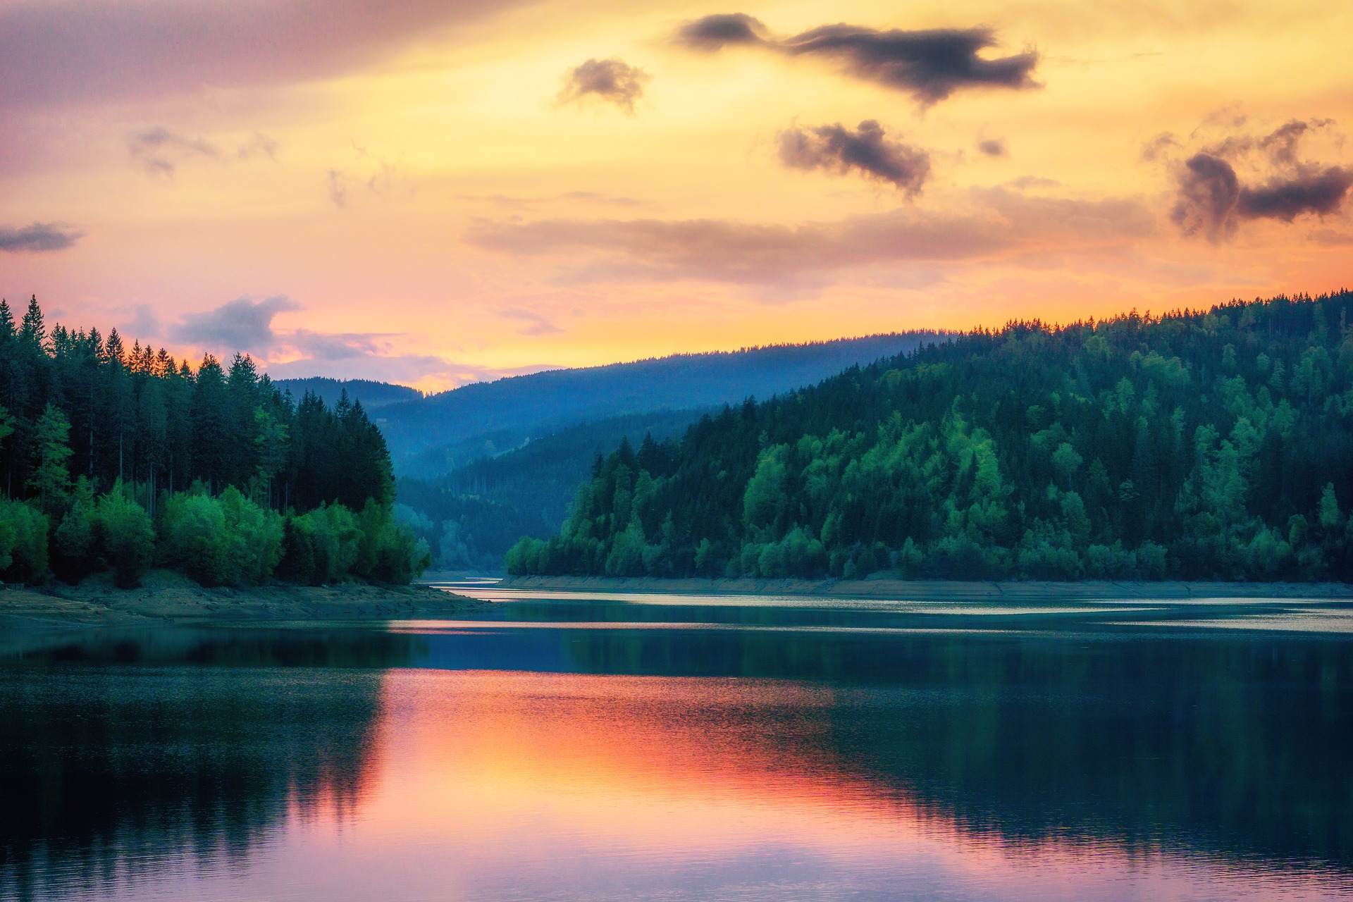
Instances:
[[[486,438],[501,452],[589,419],[769,398],[942,338],[917,331],[555,369],[390,404],[382,430],[400,472],[434,476],[483,456]],[[451,446],[434,454],[440,465],[414,461],[438,446]]]

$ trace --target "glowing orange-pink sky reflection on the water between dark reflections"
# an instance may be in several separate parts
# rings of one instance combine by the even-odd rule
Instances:
[[[1123,898],[1124,880],[1132,897],[1322,895],[1199,856],[965,829],[852,769],[833,751],[835,703],[771,680],[390,671],[379,775],[342,828],[311,825],[310,851],[322,867],[341,833],[346,865],[394,867],[413,895],[426,880],[448,898],[698,897],[702,879],[718,895],[741,894],[728,880],[819,879],[1003,898]]]

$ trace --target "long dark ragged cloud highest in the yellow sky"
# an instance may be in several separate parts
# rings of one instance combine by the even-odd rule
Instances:
[[[990,28],[935,28],[878,31],[848,24],[810,28],[787,38],[774,37],[744,14],[720,14],[687,22],[676,42],[706,53],[729,45],[760,46],[786,57],[823,57],[840,64],[856,78],[911,93],[930,105],[961,88],[1036,88],[1038,53],[986,58],[996,46]]]

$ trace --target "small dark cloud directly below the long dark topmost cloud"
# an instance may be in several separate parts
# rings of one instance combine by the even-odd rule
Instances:
[[[825,169],[890,183],[908,197],[920,193],[930,176],[930,154],[900,141],[889,141],[873,119],[851,131],[836,123],[779,133],[779,158],[793,169]]]

